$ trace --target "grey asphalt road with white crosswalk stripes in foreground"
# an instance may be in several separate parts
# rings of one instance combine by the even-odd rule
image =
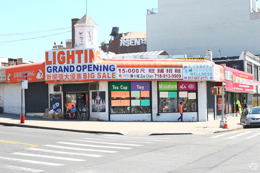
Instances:
[[[126,136],[0,126],[0,172],[259,172],[259,128]]]

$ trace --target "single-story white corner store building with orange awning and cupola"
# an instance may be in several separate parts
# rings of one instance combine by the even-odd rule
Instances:
[[[75,24],[74,48],[45,51],[45,62],[7,67],[4,92],[11,97],[4,98],[5,112],[21,113],[20,73],[28,71],[28,89],[22,90],[25,114],[43,115],[46,108],[65,113],[73,104],[78,118],[84,113],[105,121],[177,121],[178,105],[183,102],[186,122],[216,118],[218,98],[210,94],[210,87],[233,78],[225,79],[226,70],[212,62],[210,54],[208,60],[167,55],[113,58],[98,48],[97,28],[86,14]],[[250,78],[244,93],[253,92],[251,76],[242,75]],[[227,109],[235,112],[238,95],[232,93],[226,95],[231,102]]]

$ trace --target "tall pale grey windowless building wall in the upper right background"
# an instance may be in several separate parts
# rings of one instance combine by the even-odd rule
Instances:
[[[239,56],[260,54],[258,0],[158,0],[158,13],[147,14],[147,51],[169,55]]]

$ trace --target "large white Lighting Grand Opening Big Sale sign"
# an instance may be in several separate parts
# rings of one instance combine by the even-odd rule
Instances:
[[[96,64],[100,49],[65,49],[45,51],[46,81],[88,81],[116,79],[116,65]]]

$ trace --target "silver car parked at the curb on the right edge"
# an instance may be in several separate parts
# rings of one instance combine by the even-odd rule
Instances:
[[[250,111],[243,108],[240,123],[245,123],[246,125],[260,125],[260,106],[253,107]]]

